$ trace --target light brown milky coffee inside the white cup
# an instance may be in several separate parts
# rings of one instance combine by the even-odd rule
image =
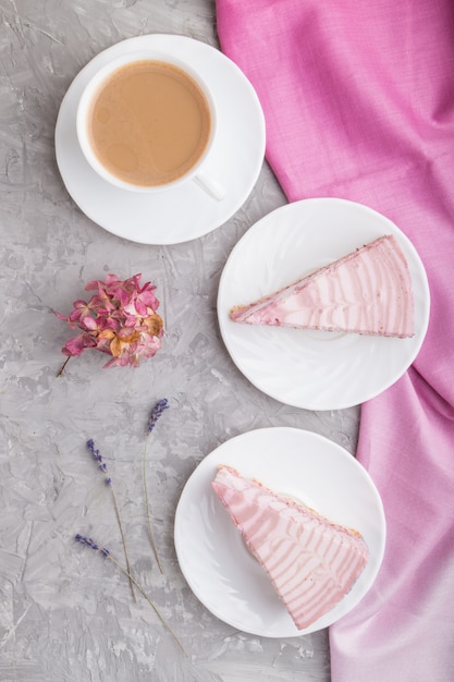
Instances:
[[[211,129],[209,105],[184,71],[157,60],[119,68],[99,87],[88,117],[99,162],[142,186],[177,180],[199,160]]]

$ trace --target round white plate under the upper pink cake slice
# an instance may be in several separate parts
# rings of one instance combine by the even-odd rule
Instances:
[[[415,336],[396,339],[233,322],[230,309],[251,303],[383,234],[408,261]],[[272,211],[237,242],[222,272],[218,316],[232,360],[256,388],[307,410],[357,405],[394,383],[426,336],[430,294],[422,263],[391,220],[353,202],[304,199]]]

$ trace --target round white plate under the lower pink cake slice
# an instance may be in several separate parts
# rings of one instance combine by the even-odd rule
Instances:
[[[309,628],[296,629],[212,490],[221,464],[363,534],[370,552],[366,569],[342,601]],[[176,555],[194,594],[219,619],[263,637],[315,632],[345,616],[373,583],[384,543],[381,499],[366,470],[331,440],[297,428],[263,428],[224,442],[197,466],[176,508]]]

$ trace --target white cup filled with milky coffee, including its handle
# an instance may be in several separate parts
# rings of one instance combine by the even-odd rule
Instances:
[[[222,198],[201,172],[216,134],[212,97],[191,68],[147,50],[113,60],[86,86],[77,136],[96,172],[122,188],[155,192],[189,179]]]

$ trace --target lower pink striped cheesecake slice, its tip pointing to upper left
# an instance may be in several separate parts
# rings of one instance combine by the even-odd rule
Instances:
[[[363,573],[369,551],[357,531],[229,466],[218,470],[212,487],[298,630],[334,608]]]

